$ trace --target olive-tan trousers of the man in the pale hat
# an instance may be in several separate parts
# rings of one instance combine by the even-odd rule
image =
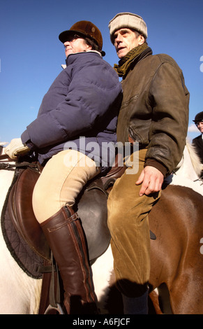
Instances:
[[[141,186],[135,185],[144,168],[145,155],[146,149],[139,151],[137,174],[125,172],[116,180],[108,199],[108,227],[112,236],[116,286],[128,297],[142,295],[142,290],[146,289],[144,286],[149,282],[148,214],[160,197],[160,193],[140,197]]]

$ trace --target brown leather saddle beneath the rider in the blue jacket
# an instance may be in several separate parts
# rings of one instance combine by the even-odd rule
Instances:
[[[87,220],[82,220],[84,232],[87,235],[90,260],[101,255],[110,242],[110,233],[106,223],[107,209],[105,209],[107,195],[114,181],[119,178],[124,171],[125,167],[112,167],[106,176],[99,177],[89,182],[82,191],[82,195],[80,195],[77,200],[76,210],[82,219],[87,216],[91,206],[96,209],[95,217],[97,218],[89,218],[89,216],[87,216]],[[43,234],[43,230],[40,228],[33,214],[32,208],[33,188],[39,176],[40,171],[38,169],[30,167],[19,169],[17,180],[13,184],[8,197],[8,211],[18,234],[24,241],[27,241],[27,244],[35,253],[45,260],[50,261],[50,248]],[[92,193],[94,193],[94,195],[92,195]],[[84,200],[84,202],[82,202],[82,200]],[[98,213],[100,211],[105,211],[105,214],[99,215]],[[100,223],[100,216],[104,217],[102,218],[102,223]],[[97,221],[96,225],[92,225],[94,220]],[[98,232],[93,232],[92,228],[98,230]]]

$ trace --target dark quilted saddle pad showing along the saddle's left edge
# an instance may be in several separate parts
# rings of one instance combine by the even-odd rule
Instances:
[[[1,213],[1,230],[10,254],[22,270],[33,279],[42,279],[43,274],[40,273],[38,269],[43,267],[44,260],[29,247],[27,242],[24,241],[20,235],[18,235],[8,211],[8,197],[17,176],[18,172],[14,175],[13,182],[8,190],[8,195],[6,196],[3,205]]]

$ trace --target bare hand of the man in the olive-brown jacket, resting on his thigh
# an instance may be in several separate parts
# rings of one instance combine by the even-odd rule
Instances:
[[[140,185],[142,183],[142,187],[140,189],[140,196],[149,195],[153,192],[158,192],[161,189],[163,184],[164,176],[163,174],[156,169],[155,167],[146,166],[141,174],[139,179],[137,179],[136,185]]]

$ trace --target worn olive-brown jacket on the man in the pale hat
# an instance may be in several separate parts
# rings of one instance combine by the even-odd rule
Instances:
[[[167,176],[181,160],[188,131],[189,92],[181,69],[172,57],[147,48],[131,63],[122,87],[118,141],[138,141],[147,148],[145,166]]]

